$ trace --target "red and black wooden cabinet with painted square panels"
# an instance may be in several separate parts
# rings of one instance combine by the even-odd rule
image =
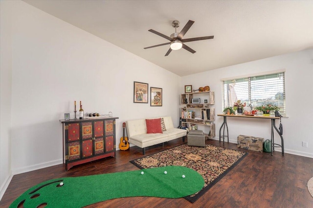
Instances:
[[[66,170],[104,157],[115,157],[115,119],[118,117],[60,120]]]

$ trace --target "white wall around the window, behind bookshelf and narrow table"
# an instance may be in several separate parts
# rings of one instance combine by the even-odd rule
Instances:
[[[227,58],[227,57],[225,57]],[[212,71],[182,77],[181,88],[192,85],[198,89],[209,85],[215,92],[216,114],[222,113],[222,85],[221,78],[246,76],[285,69],[286,112],[288,118],[283,118],[283,137],[285,152],[313,157],[313,121],[311,105],[313,103],[313,49],[265,58],[248,63],[224,67]],[[181,92],[182,93],[182,92]],[[223,117],[217,116],[216,138]],[[270,120],[227,118],[230,142],[237,143],[240,134],[270,139]],[[276,126],[279,121],[276,121]],[[275,143],[280,143],[280,137],[275,132]],[[302,147],[302,141],[308,142],[308,148]],[[276,149],[281,151],[280,148]]]

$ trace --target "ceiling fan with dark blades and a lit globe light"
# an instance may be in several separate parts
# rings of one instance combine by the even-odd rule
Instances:
[[[179,21],[178,20],[174,20],[172,22],[172,26],[175,28],[175,33],[173,33],[170,37],[166,36],[166,35],[163,35],[162,33],[159,33],[153,29],[150,29],[148,31],[158,35],[158,36],[161,36],[165,39],[168,39],[170,42],[167,42],[167,43],[162,43],[162,44],[158,44],[158,45],[154,45],[154,46],[150,46],[150,47],[146,47],[144,49],[148,49],[148,48],[154,48],[154,47],[157,47],[157,46],[162,46],[162,45],[168,45],[168,44],[171,44],[170,45],[170,48],[168,49],[167,53],[165,54],[165,56],[168,56],[172,50],[179,50],[181,48],[184,48],[186,49],[187,51],[189,51],[190,53],[196,53],[195,50],[189,48],[188,46],[186,46],[184,44],[184,42],[191,42],[191,41],[197,41],[197,40],[205,40],[205,39],[213,39],[214,36],[205,36],[205,37],[198,37],[198,38],[186,38],[186,39],[182,39],[183,36],[187,33],[187,31],[189,30],[189,28],[192,26],[192,24],[194,23],[195,21],[192,21],[192,20],[189,20],[187,22],[187,24],[182,28],[182,30],[180,31],[180,33],[177,33],[176,29],[179,27]]]

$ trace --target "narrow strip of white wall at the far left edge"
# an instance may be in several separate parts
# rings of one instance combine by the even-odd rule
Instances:
[[[0,1],[0,199],[12,178],[11,171],[11,4]]]

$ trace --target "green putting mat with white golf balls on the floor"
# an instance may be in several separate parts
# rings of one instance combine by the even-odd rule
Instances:
[[[46,205],[46,208],[80,208],[132,196],[180,198],[200,191],[203,186],[204,179],[197,171],[182,166],[58,178],[28,189],[10,208],[19,205],[24,208],[39,205]]]

